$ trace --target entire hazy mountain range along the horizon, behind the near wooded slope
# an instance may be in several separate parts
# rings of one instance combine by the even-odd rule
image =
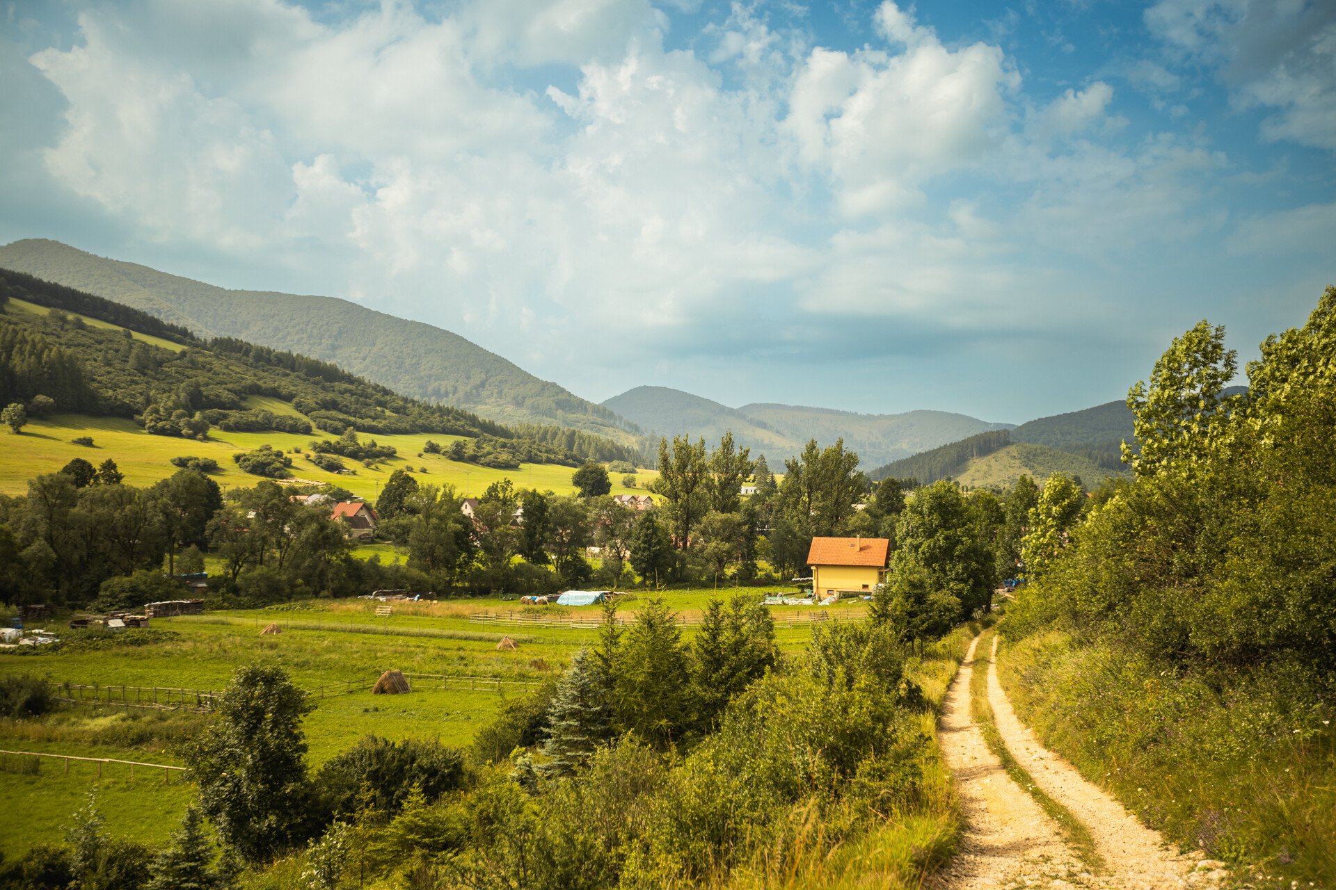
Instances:
[[[732,408],[656,386],[636,387],[596,404],[458,334],[350,300],[222,288],[45,239],[0,247],[0,268],[123,303],[199,336],[238,338],[331,362],[410,398],[512,426],[556,424],[593,432],[643,450],[652,450],[659,435],[689,434],[717,440],[732,430],[740,446],[749,447],[754,455],[766,454],[778,468],[784,458],[802,451],[808,439],[828,444],[843,438],[864,467],[878,467],[874,474],[900,475],[880,464],[979,434],[1010,430],[1011,443],[1074,454],[1106,472],[1117,472],[1118,443],[1132,436],[1132,415],[1121,402],[1039,418],[1019,427],[927,410],[856,414],[774,403]],[[934,466],[941,459],[941,455],[934,458]]]

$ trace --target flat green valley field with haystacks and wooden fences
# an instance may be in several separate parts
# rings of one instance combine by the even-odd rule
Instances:
[[[760,596],[772,588],[713,588],[665,591],[663,596],[688,620],[697,619],[713,596],[735,592]],[[653,594],[625,595],[619,611],[632,618]],[[369,691],[315,698],[306,718],[310,763],[318,767],[367,733],[403,739],[436,738],[445,745],[468,746],[476,733],[508,698],[526,694],[517,681],[530,683],[556,677],[581,647],[595,642],[592,627],[556,627],[530,623],[490,624],[470,614],[542,615],[552,619],[597,618],[600,607],[521,607],[514,600],[469,599],[397,604],[387,618],[375,615],[370,600],[313,600],[250,611],[219,611],[199,616],[155,619],[148,631],[130,631],[111,646],[71,646],[64,651],[36,655],[0,652],[0,675],[31,674],[56,682],[100,686],[159,686],[222,690],[232,673],[251,663],[281,664],[302,689],[315,691],[354,681],[367,683],[389,669],[410,674],[502,681],[500,691],[474,689],[466,681],[414,679],[409,695],[371,695]],[[807,622],[786,623],[787,616],[820,614],[858,616],[859,602],[816,610],[772,607],[776,636],[784,651],[807,644]],[[259,631],[275,622],[278,635]],[[49,622],[52,630],[63,623]],[[695,627],[688,624],[691,639]],[[132,635],[139,635],[138,639]],[[502,635],[518,648],[497,650]],[[139,642],[142,644],[128,644]],[[945,664],[943,664],[945,667]],[[486,683],[478,682],[482,687]],[[130,694],[134,701],[134,694]],[[110,757],[151,763],[180,763],[179,745],[204,730],[206,718],[190,711],[156,711],[90,702],[68,705],[35,721],[0,719],[0,749],[47,751],[81,757]],[[32,759],[27,759],[31,765]],[[17,763],[17,766],[16,766]],[[160,771],[136,771],[134,782],[126,766],[107,765],[100,779],[96,765],[73,763],[69,771],[59,761],[44,762],[36,775],[25,774],[23,759],[0,755],[0,797],[23,806],[0,807],[0,853],[20,855],[31,845],[59,839],[69,815],[84,805],[90,789],[98,790],[98,806],[108,830],[148,843],[164,841],[175,827],[192,791],[172,774],[164,785]]]

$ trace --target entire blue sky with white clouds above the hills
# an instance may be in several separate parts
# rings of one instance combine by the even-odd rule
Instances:
[[[1026,419],[1336,284],[1336,3],[0,0],[0,243]]]

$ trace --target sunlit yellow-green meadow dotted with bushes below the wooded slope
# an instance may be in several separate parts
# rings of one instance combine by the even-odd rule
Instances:
[[[254,407],[263,407],[275,414],[293,414],[291,406],[277,399],[258,399]],[[139,428],[132,420],[118,418],[91,418],[84,415],[56,415],[44,420],[29,420],[21,435],[3,435],[4,451],[0,456],[0,494],[23,494],[27,491],[28,480],[37,474],[56,472],[75,458],[99,464],[107,458],[116,462],[120,471],[126,474],[126,482],[132,486],[147,486],[166,479],[176,472],[170,460],[180,455],[196,458],[212,458],[218,462],[219,472],[214,476],[224,490],[230,486],[248,487],[259,482],[259,476],[242,472],[232,462],[232,455],[242,451],[251,451],[262,444],[271,444],[275,448],[301,448],[309,451],[313,439],[330,438],[325,432],[311,435],[294,435],[287,432],[223,432],[214,430],[207,442],[192,439],[178,439],[175,436],[151,436]],[[76,446],[71,439],[79,436],[92,436],[94,447]],[[395,470],[411,467],[413,476],[420,483],[442,484],[456,487],[458,494],[465,496],[481,495],[489,484],[500,479],[510,479],[516,487],[550,490],[557,494],[572,494],[574,487],[570,476],[572,467],[556,464],[521,464],[518,470],[490,470],[472,463],[458,463],[442,455],[425,454],[422,446],[428,439],[449,444],[460,436],[444,435],[398,435],[398,436],[363,436],[374,438],[381,444],[394,446],[398,455],[385,460],[374,470],[355,466],[357,475],[337,475],[321,470],[303,454],[293,454],[291,472],[295,478],[310,479],[319,483],[334,483],[343,486],[349,491],[369,500],[374,500],[381,486]],[[418,456],[421,455],[421,456]],[[418,472],[426,467],[426,472]],[[641,487],[657,475],[655,471],[641,470],[639,483]],[[612,474],[613,494],[644,494],[643,488],[625,488],[621,486],[621,474]]]

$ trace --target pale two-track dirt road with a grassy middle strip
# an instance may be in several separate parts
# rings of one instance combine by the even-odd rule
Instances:
[[[990,646],[987,636],[993,636]],[[975,669],[985,667],[978,655],[981,640],[991,652],[986,659],[987,691],[974,697],[971,709],[970,686],[979,683]],[[1200,853],[1182,855],[1170,849],[1157,831],[1045,749],[1021,723],[998,682],[997,646],[991,631],[970,644],[938,725],[965,818],[961,853],[946,875],[946,886],[1220,886],[1225,871],[1214,869],[1216,863],[1202,861]],[[985,727],[994,726],[990,747]],[[995,750],[997,745],[1003,750]],[[1074,838],[1083,838],[1089,849],[1081,849],[1081,841]]]

